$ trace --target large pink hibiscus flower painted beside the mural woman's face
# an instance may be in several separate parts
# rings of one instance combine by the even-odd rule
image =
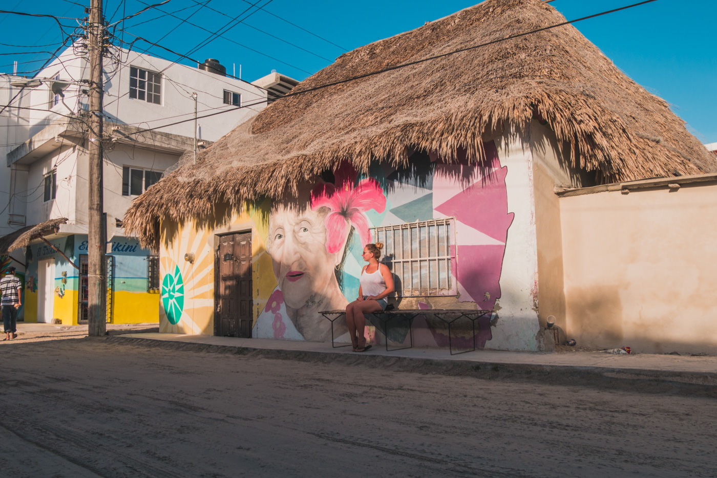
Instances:
[[[341,249],[348,235],[348,228],[353,225],[361,239],[361,247],[371,242],[369,219],[364,212],[374,209],[384,212],[386,196],[379,183],[372,178],[364,179],[351,187],[344,182],[341,188],[325,183],[317,186],[311,193],[311,209],[328,207],[331,212],[326,216],[326,250],[333,254]]]

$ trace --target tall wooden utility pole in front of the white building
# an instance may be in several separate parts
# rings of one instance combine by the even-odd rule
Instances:
[[[90,50],[90,117],[87,153],[87,325],[88,335],[98,337],[107,330],[107,229],[103,221],[103,77],[102,54],[105,20],[102,0],[90,0],[87,42]]]

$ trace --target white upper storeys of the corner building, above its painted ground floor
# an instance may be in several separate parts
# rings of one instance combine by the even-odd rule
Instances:
[[[113,56],[122,62],[105,59],[105,135],[110,138],[105,143],[105,210],[121,217],[141,192],[139,183],[131,183],[138,171],[150,172],[143,173],[148,186],[193,148],[195,105],[201,148],[265,107],[267,90],[217,74],[215,60],[201,65],[206,71],[123,49],[115,49]],[[8,168],[0,185],[0,209],[5,208],[0,236],[58,216],[70,219],[67,227],[86,229],[87,164],[77,159],[86,155],[82,113],[87,111],[88,75],[87,59],[68,48],[33,79],[0,76],[1,104],[14,98],[0,115],[1,153]],[[232,111],[216,114],[225,110]],[[141,129],[152,131],[133,134]],[[138,171],[129,172],[133,189],[123,194],[126,168]]]

